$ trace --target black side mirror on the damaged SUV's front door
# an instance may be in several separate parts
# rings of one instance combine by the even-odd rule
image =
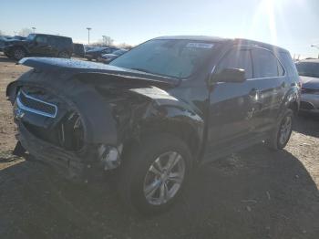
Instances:
[[[224,68],[218,74],[211,75],[211,83],[213,82],[230,82],[241,83],[246,80],[245,70],[241,68]]]

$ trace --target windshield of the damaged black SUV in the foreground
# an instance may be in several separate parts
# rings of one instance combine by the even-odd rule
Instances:
[[[109,65],[172,78],[188,78],[211,57],[211,42],[156,39],[131,49]]]

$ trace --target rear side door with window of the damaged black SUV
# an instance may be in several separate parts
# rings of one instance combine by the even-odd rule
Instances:
[[[270,130],[279,113],[285,88],[284,69],[273,52],[261,48],[252,48],[253,80],[259,98],[254,111],[253,125],[256,132]]]

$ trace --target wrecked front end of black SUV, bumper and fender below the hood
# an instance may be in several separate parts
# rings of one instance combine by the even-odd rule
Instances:
[[[11,83],[17,140],[37,159],[84,180],[117,168],[130,141],[150,128],[183,122],[201,143],[203,121],[164,90],[139,77],[35,68]],[[170,120],[168,120],[170,119]]]

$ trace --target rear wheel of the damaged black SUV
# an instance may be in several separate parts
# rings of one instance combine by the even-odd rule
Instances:
[[[293,131],[293,110],[286,109],[283,116],[278,120],[271,137],[266,141],[269,149],[274,151],[283,150],[287,145]]]

